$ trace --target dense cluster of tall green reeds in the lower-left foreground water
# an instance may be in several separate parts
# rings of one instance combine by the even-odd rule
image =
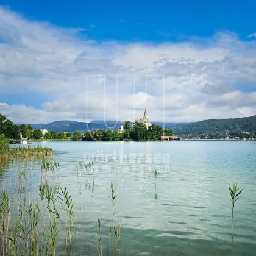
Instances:
[[[52,185],[48,179],[45,183],[39,182],[37,196],[34,195],[32,201],[29,196],[28,201],[27,185],[32,172],[25,166],[18,166],[13,172],[18,191],[16,210],[10,205],[11,194],[5,188],[0,190],[0,255],[55,256],[60,230],[65,230],[65,251],[71,255],[76,234],[71,195],[66,187]],[[44,159],[41,172],[53,173],[56,168],[59,163]],[[11,210],[17,213],[16,217],[10,218]]]

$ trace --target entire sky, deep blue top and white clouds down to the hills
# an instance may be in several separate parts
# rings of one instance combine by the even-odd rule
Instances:
[[[256,115],[254,1],[1,2],[0,113],[15,123]]]

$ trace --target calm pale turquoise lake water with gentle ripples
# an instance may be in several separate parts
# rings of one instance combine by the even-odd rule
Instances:
[[[255,142],[36,144],[55,149],[54,158],[60,162],[57,182],[68,188],[75,202],[74,255],[98,254],[94,241],[98,216],[103,222],[102,255],[113,255],[107,249],[111,182],[118,186],[115,220],[121,221],[121,255],[232,255],[228,183],[233,181],[244,188],[235,204],[233,254],[255,255]],[[91,161],[94,171],[78,168],[77,175],[77,164]],[[41,162],[32,165],[36,189]],[[154,168],[159,172],[156,178]],[[10,163],[5,166],[0,187],[9,185],[11,169]],[[59,238],[58,243],[64,241]]]

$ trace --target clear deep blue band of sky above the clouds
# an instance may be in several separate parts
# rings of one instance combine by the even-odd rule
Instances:
[[[1,4],[32,20],[90,29],[86,35],[95,40],[181,41],[211,37],[217,30],[246,38],[256,27],[253,0],[2,0]]]

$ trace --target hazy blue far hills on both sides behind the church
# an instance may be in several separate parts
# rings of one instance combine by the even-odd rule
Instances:
[[[123,122],[124,123],[124,122]],[[163,122],[152,122],[163,127]],[[132,123],[131,123],[132,124]],[[181,126],[188,123],[165,123],[165,129],[172,129],[172,127]],[[77,121],[55,121],[49,124],[32,124],[34,129],[47,129],[55,130],[56,132],[74,132],[75,130],[87,131],[94,130],[96,128],[101,130],[116,130],[121,126],[121,122],[111,121],[111,120],[93,120],[90,123],[77,122]]]

